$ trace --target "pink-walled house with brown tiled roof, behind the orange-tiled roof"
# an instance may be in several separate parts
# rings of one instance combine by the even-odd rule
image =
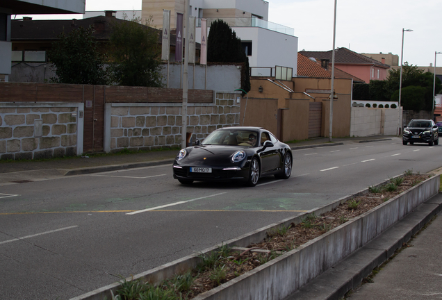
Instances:
[[[332,51],[300,51],[307,58],[314,58],[316,61],[325,62],[328,60],[331,65]],[[298,56],[299,60],[299,56]],[[298,61],[299,64],[299,61]],[[365,83],[370,80],[384,80],[388,76],[389,65],[381,63],[373,58],[351,51],[347,48],[335,50],[335,68],[347,74],[361,78]],[[299,66],[298,66],[299,68]],[[299,74],[299,72],[298,72]],[[335,76],[336,77],[336,76]]]

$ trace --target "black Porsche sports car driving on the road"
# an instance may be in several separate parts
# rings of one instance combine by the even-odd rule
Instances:
[[[255,186],[259,178],[275,175],[287,179],[293,155],[288,144],[260,127],[225,127],[204,141],[181,149],[173,165],[180,183],[193,181],[242,181]]]

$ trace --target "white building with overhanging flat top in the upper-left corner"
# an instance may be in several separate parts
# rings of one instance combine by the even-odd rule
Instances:
[[[8,81],[11,68],[10,16],[20,14],[84,13],[85,0],[0,1],[0,81]]]

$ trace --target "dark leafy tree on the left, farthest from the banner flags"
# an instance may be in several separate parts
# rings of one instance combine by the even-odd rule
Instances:
[[[67,35],[60,33],[48,51],[48,58],[54,63],[55,83],[76,83],[101,85],[108,82],[104,67],[106,56],[98,49],[98,42],[93,37],[94,30],[75,28]]]

